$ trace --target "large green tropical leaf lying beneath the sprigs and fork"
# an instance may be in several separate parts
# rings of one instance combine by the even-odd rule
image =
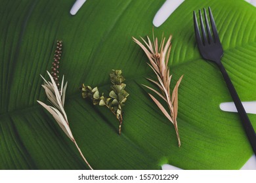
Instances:
[[[179,86],[178,125],[165,118],[148,90],[154,79],[144,52],[133,42],[152,35],[152,20],[164,0],[88,0],[75,16],[74,1],[0,0],[0,169],[88,169],[74,144],[37,100],[47,102],[54,43],[63,41],[60,74],[68,80],[65,110],[72,133],[94,169],[240,169],[253,154],[238,114],[222,112],[232,101],[221,73],[196,46],[192,11],[211,7],[223,64],[242,101],[255,100],[256,11],[242,0],[186,0],[155,36],[173,35],[169,64]],[[81,97],[81,84],[109,93],[108,74],[126,78],[122,134],[108,108]],[[154,86],[152,86],[154,87]],[[174,87],[174,86],[173,86]],[[256,116],[249,114],[253,126]]]

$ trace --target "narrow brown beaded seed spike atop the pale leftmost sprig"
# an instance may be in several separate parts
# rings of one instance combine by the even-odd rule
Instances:
[[[62,41],[57,41],[56,43],[56,50],[54,53],[54,58],[53,58],[53,67],[52,67],[52,73],[51,75],[54,78],[54,81],[56,83],[56,85],[59,87],[60,86],[60,82],[58,81],[58,67],[60,67],[60,57],[62,54]]]

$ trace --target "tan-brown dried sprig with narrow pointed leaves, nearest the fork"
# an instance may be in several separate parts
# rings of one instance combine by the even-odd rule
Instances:
[[[156,84],[158,88],[160,89],[160,92],[154,90],[153,88],[150,88],[149,86],[145,86],[146,88],[152,90],[152,92],[156,93],[158,96],[165,101],[167,104],[167,107],[169,108],[169,112],[161,105],[160,101],[156,99],[153,95],[148,93],[154,103],[160,108],[161,112],[165,115],[165,117],[174,125],[175,131],[177,134],[178,144],[181,146],[181,140],[179,137],[179,131],[178,131],[178,125],[177,125],[177,114],[178,114],[178,88],[179,84],[181,83],[182,77],[179,78],[177,81],[175,88],[173,89],[173,92],[170,91],[170,84],[171,84],[171,77],[170,70],[168,66],[169,61],[169,55],[171,52],[171,35],[169,36],[169,39],[165,42],[165,37],[162,37],[160,45],[158,45],[158,38],[154,38],[153,34],[153,42],[150,41],[150,38],[147,37],[148,42],[146,42],[142,37],[142,42],[138,41],[133,37],[133,41],[135,41],[137,44],[139,44],[140,48],[144,50],[146,53],[146,56],[149,59],[148,65],[151,67],[151,69],[156,74],[158,80],[152,80],[150,78],[147,78],[150,80],[150,82]]]

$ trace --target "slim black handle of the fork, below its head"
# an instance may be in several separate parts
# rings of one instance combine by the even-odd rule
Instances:
[[[221,70],[221,73],[223,74],[226,85],[228,86],[228,90],[232,96],[234,104],[236,105],[236,109],[238,110],[238,114],[244,126],[247,138],[249,139],[249,142],[251,143],[251,147],[253,148],[253,152],[256,155],[256,134],[253,129],[253,125],[251,125],[251,122],[244,110],[244,106],[242,105],[240,98],[238,97],[238,93],[236,93],[236,89],[234,88],[228,76],[228,73],[226,73],[226,69],[224,68],[221,61],[219,61],[218,65],[219,65],[219,69]]]

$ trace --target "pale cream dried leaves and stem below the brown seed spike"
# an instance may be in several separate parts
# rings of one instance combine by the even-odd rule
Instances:
[[[37,101],[40,105],[42,105],[50,114],[53,115],[53,118],[56,120],[60,128],[66,133],[66,135],[70,138],[72,142],[74,142],[77,150],[79,151],[81,157],[85,161],[85,163],[89,166],[90,169],[93,169],[91,165],[87,162],[85,157],[83,156],[83,153],[81,152],[79,146],[75,142],[75,138],[72,135],[72,131],[70,129],[70,125],[68,124],[68,118],[66,115],[66,112],[64,110],[64,102],[65,102],[65,93],[66,93],[66,88],[68,85],[68,82],[63,86],[64,84],[64,76],[62,78],[62,83],[60,88],[58,88],[56,82],[54,81],[53,76],[47,71],[47,74],[51,78],[51,81],[45,80],[43,76],[43,80],[45,80],[45,84],[43,84],[43,88],[45,89],[45,93],[47,95],[47,98],[49,99],[50,103],[53,106],[46,105],[45,103],[41,101]]]

